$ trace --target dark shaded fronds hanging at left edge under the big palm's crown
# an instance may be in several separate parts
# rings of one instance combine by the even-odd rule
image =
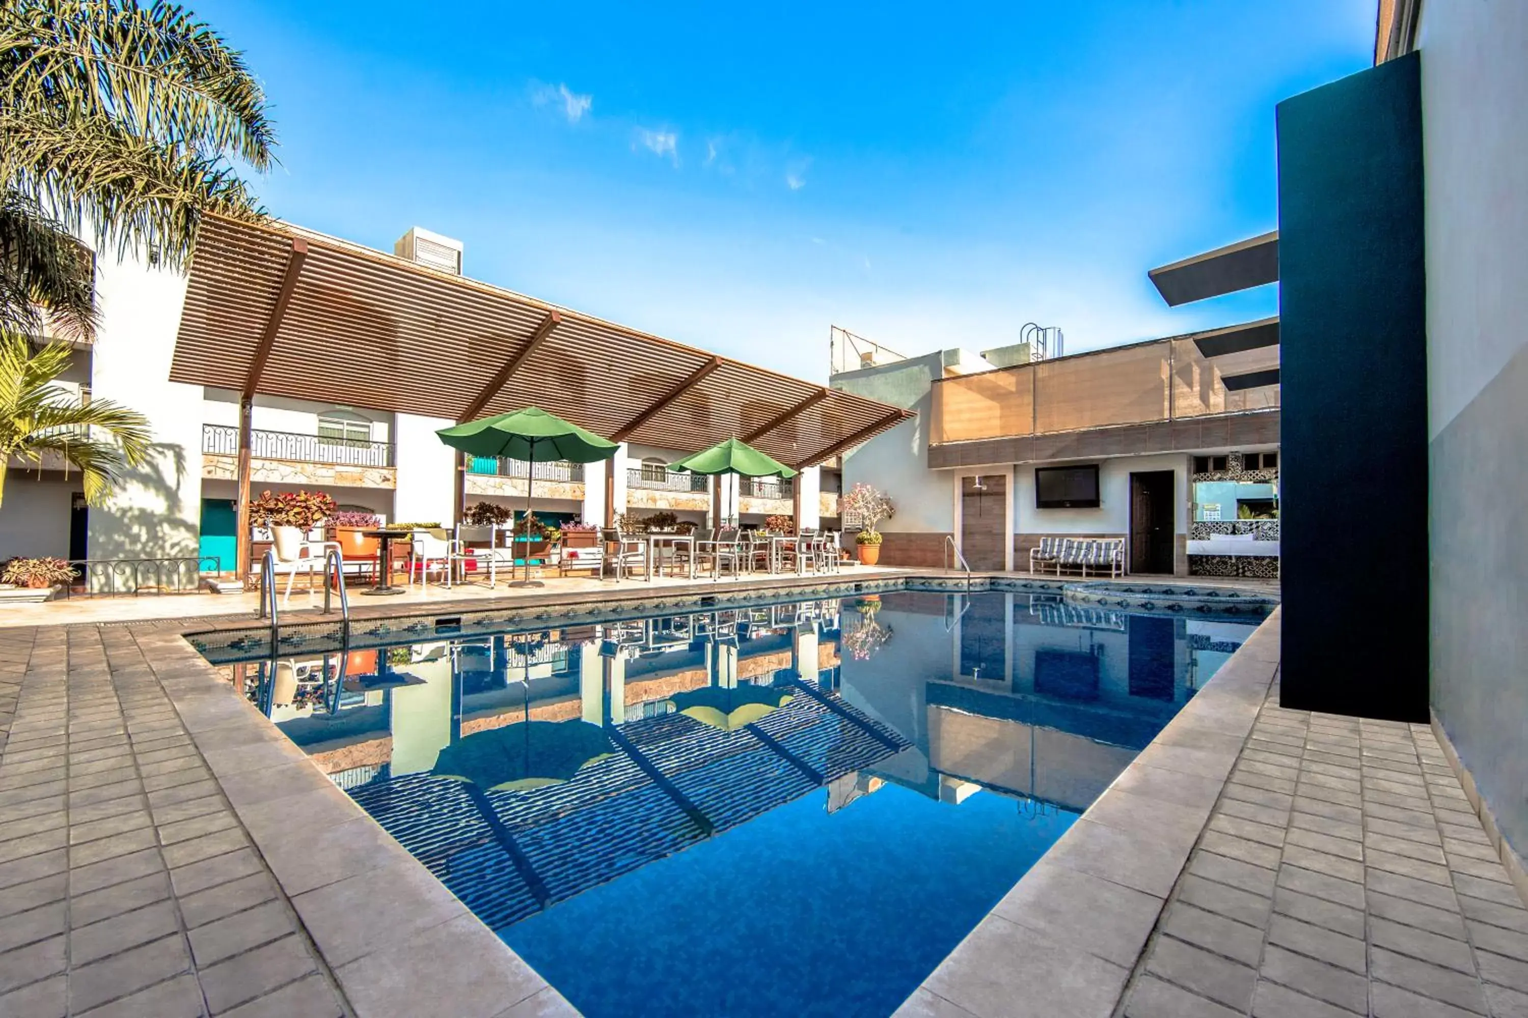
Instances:
[[[44,314],[46,311],[46,314]],[[44,319],[70,339],[95,334],[89,249],[35,201],[0,192],[0,327],[40,334]]]

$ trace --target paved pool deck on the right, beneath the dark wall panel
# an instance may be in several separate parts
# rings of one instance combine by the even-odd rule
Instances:
[[[1280,708],[1279,618],[898,1015],[1528,1015],[1528,908],[1433,730]]]

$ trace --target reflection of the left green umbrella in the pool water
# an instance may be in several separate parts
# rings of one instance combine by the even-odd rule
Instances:
[[[571,781],[611,752],[605,730],[587,720],[523,720],[451,743],[431,774],[486,791],[524,791]]]

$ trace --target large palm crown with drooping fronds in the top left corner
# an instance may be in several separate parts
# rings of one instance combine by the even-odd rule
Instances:
[[[0,324],[95,325],[89,256],[183,264],[202,215],[260,217],[238,165],[275,136],[243,55],[196,15],[138,0],[0,5]]]

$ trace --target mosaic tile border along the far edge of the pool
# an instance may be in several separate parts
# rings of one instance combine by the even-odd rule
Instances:
[[[1204,585],[1122,585],[1077,583],[1067,580],[1036,580],[1010,575],[973,577],[879,577],[866,580],[837,580],[819,583],[795,583],[778,588],[718,588],[714,592],[685,591],[669,594],[645,594],[611,600],[608,595],[591,600],[584,595],[564,604],[538,603],[521,607],[494,607],[461,610],[435,609],[429,614],[408,612],[353,620],[348,639],[338,620],[307,621],[301,618],[281,626],[280,644],[284,649],[318,647],[347,643],[351,649],[382,647],[411,636],[471,636],[513,630],[516,627],[544,629],[556,626],[585,626],[596,621],[634,620],[663,615],[674,610],[706,610],[720,607],[766,607],[787,601],[865,597],[912,591],[923,594],[1050,594],[1082,606],[1115,610],[1152,612],[1161,615],[1268,615],[1279,604],[1273,594],[1251,591],[1229,591]],[[185,633],[203,656],[214,664],[234,658],[270,652],[270,629],[267,623],[241,621],[234,627],[189,630]]]

